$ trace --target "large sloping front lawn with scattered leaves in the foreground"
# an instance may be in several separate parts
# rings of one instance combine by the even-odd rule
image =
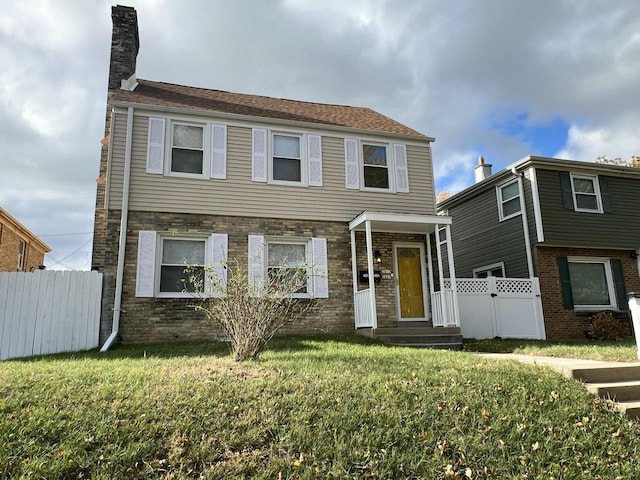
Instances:
[[[0,363],[0,478],[628,479],[640,423],[533,365],[281,338]]]

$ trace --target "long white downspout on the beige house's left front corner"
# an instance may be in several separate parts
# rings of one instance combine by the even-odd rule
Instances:
[[[118,267],[116,270],[116,293],[113,300],[113,321],[111,335],[104,342],[101,352],[109,350],[118,337],[120,311],[122,306],[122,283],[124,277],[124,249],[127,243],[127,221],[129,214],[129,182],[131,176],[131,146],[133,142],[133,107],[127,111],[127,138],[124,152],[124,181],[122,182],[122,209],[120,214],[120,239],[118,241]]]

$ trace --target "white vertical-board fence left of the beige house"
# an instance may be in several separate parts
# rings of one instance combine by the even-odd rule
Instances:
[[[102,274],[0,272],[0,360],[98,346]]]

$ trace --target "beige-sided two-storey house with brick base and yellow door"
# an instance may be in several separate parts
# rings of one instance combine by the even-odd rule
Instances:
[[[220,333],[182,291],[185,259],[221,277],[239,262],[254,281],[307,259],[300,295],[319,308],[289,332],[457,323],[455,285],[431,307],[429,239],[451,224],[436,215],[432,138],[368,108],[137,79],[136,12],[112,20],[93,248],[105,347]]]

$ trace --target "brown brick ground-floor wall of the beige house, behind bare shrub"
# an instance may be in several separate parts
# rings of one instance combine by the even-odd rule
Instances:
[[[120,213],[107,212],[101,337],[109,334],[113,314],[115,270],[118,253]],[[277,220],[267,218],[219,217],[158,212],[129,212],[126,259],[122,293],[120,336],[124,343],[208,339],[221,334],[219,325],[196,312],[193,299],[136,298],[138,232],[226,233],[228,257],[244,268],[248,257],[248,236],[324,237],[327,239],[329,298],[318,299],[315,311],[299,322],[288,324],[282,333],[353,332],[353,289],[351,283],[350,235],[346,223]]]

